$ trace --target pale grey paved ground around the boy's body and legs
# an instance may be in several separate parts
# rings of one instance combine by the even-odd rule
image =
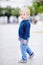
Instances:
[[[18,24],[0,25],[0,65],[24,65],[18,63],[21,58],[18,41]],[[33,59],[25,65],[43,65],[43,25],[31,26],[29,46],[34,51]]]

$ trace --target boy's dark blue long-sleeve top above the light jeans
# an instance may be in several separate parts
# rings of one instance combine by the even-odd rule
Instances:
[[[30,37],[30,21],[23,20],[19,27],[19,37],[27,40]]]

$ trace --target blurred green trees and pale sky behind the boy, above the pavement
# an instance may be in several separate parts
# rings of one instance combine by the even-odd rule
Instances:
[[[0,0],[0,24],[18,23],[19,10],[27,6],[31,11],[31,20],[43,21],[43,0]]]

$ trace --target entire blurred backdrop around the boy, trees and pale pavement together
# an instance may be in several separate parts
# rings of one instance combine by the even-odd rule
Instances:
[[[18,28],[22,20],[19,10],[23,6],[31,11],[29,46],[34,52],[25,65],[43,65],[43,0],[0,0],[0,65],[23,65],[18,63]]]

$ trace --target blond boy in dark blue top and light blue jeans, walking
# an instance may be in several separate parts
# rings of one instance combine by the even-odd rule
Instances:
[[[20,41],[20,49],[22,53],[22,59],[20,60],[21,63],[27,62],[27,55],[26,52],[30,55],[33,55],[33,52],[28,47],[28,40],[30,37],[30,21],[28,20],[30,16],[30,10],[27,7],[20,9],[20,17],[22,21],[19,27],[19,41]]]

